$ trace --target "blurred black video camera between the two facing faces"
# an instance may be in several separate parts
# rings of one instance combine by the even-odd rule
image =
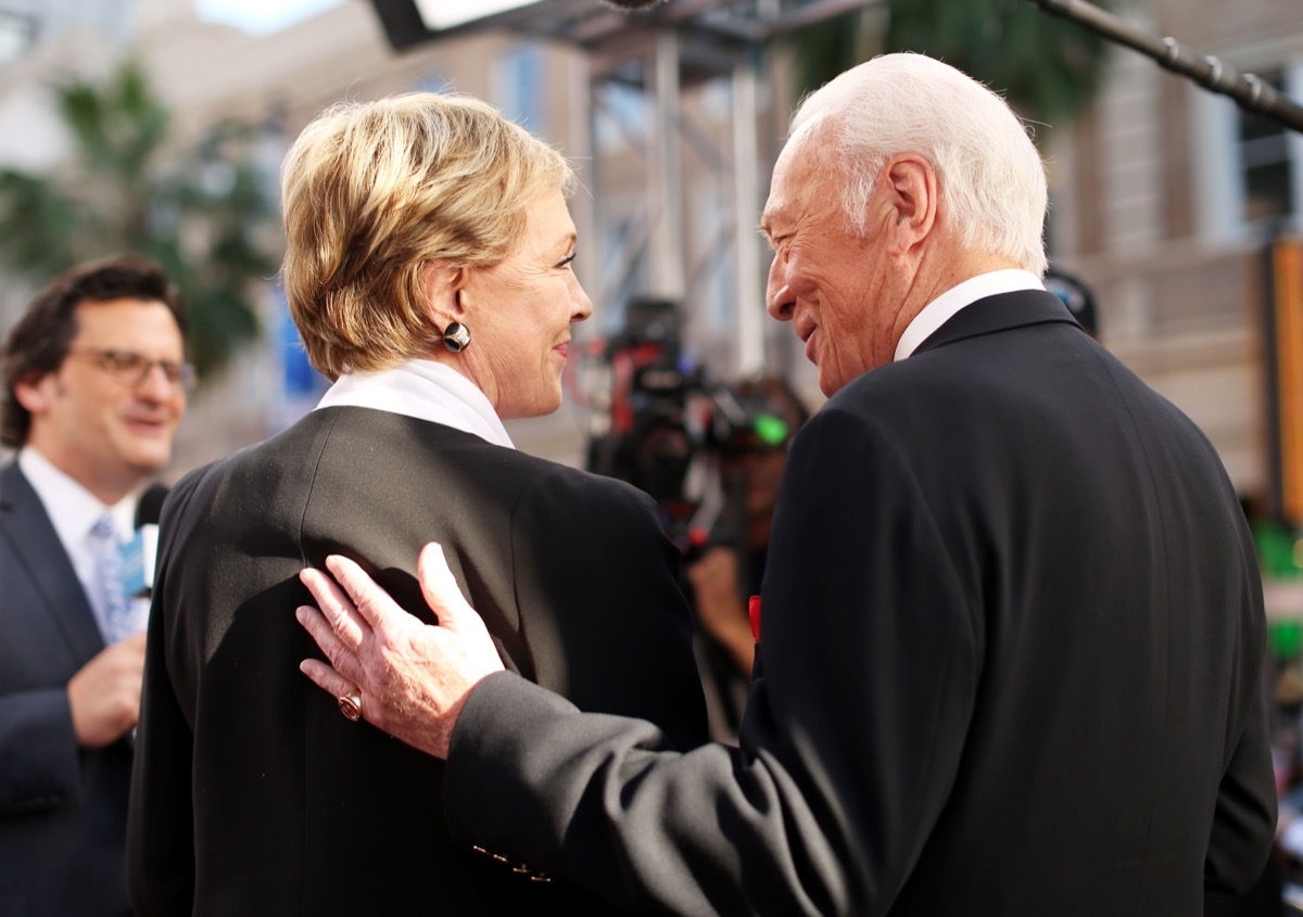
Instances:
[[[714,535],[728,499],[728,455],[786,443],[784,421],[749,413],[683,352],[679,306],[635,298],[625,327],[589,369],[588,470],[649,494],[680,550]]]

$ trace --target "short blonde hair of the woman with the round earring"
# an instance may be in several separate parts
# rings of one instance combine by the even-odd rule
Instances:
[[[330,379],[427,353],[440,340],[423,268],[500,263],[525,208],[575,173],[566,159],[463,95],[412,92],[332,106],[285,156],[289,313]]]

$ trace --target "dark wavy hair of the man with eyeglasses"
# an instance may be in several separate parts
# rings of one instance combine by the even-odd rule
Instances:
[[[14,388],[57,373],[77,336],[77,306],[113,300],[162,302],[185,336],[185,307],[176,287],[156,263],[143,255],[77,264],[46,284],[27,306],[0,349],[4,402],[0,404],[0,443],[18,448],[27,442],[31,414],[18,402]]]

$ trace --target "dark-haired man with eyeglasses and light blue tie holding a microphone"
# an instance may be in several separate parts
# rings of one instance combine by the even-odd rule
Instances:
[[[129,913],[138,522],[185,412],[184,327],[167,275],[126,255],[51,281],[0,352],[0,913]]]

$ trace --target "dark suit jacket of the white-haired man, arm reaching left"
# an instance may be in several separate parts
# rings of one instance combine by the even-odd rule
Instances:
[[[1272,841],[1263,653],[1207,439],[1055,297],[1003,294],[797,435],[741,750],[658,754],[495,675],[444,800],[683,913],[1199,914]]]

